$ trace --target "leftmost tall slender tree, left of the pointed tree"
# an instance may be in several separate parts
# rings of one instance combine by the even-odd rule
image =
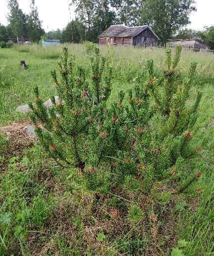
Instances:
[[[24,33],[24,13],[19,8],[17,0],[8,0],[7,6],[9,9],[8,22],[12,33],[18,38],[23,36]]]

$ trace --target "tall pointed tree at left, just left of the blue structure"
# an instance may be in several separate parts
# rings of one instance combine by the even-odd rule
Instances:
[[[28,17],[27,30],[28,37],[32,42],[39,42],[42,35],[45,34],[42,28],[42,21],[39,19],[38,9],[35,6],[35,0],[31,0],[31,11]]]

